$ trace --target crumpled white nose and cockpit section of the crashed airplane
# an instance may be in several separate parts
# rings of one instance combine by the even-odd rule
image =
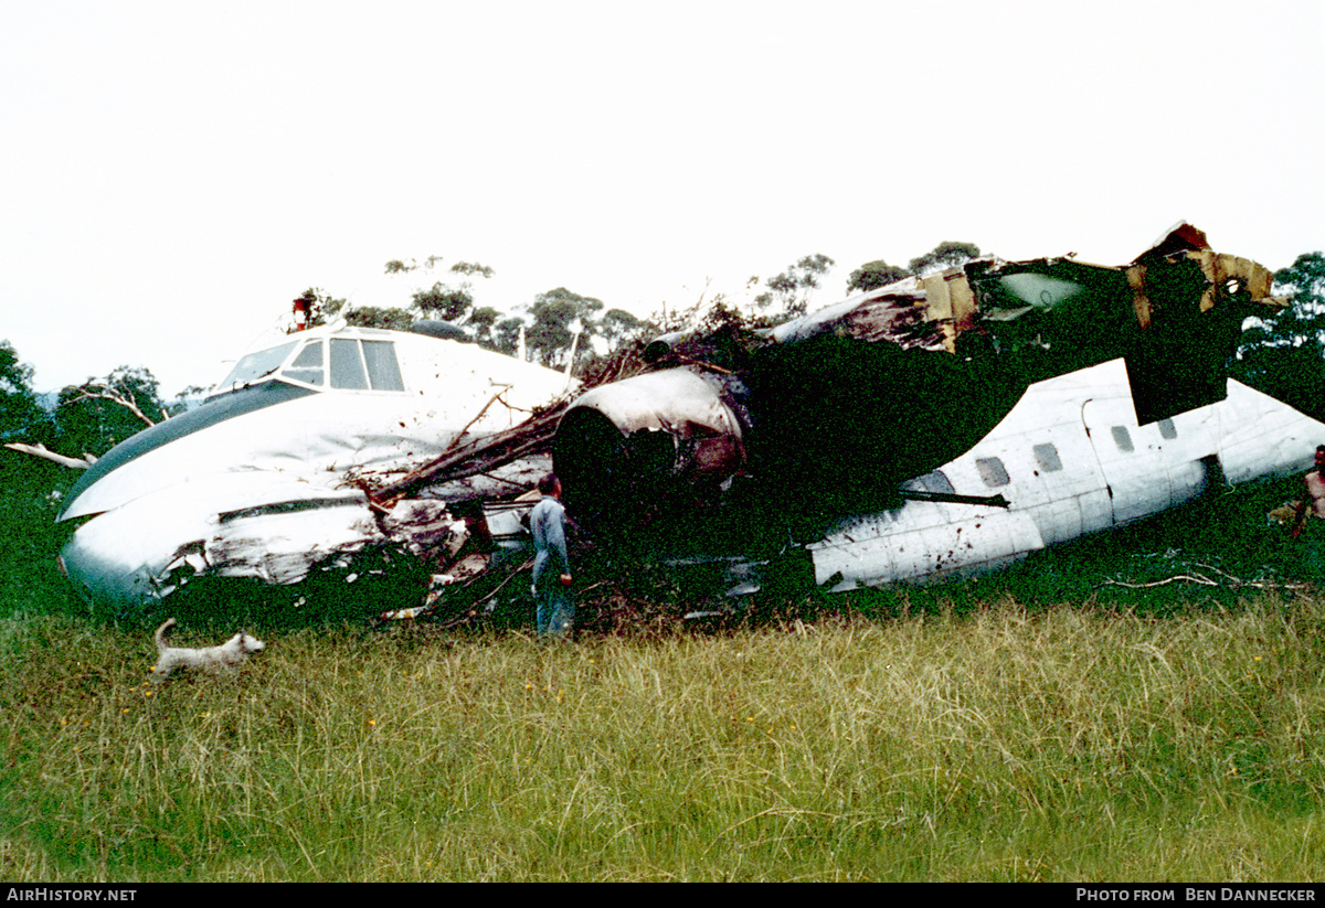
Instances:
[[[454,334],[339,323],[244,356],[201,406],[78,479],[58,515],[81,522],[61,570],[85,600],[130,613],[199,576],[294,584],[370,547],[457,548],[469,525],[448,502],[546,471],[547,439],[511,429],[570,380]],[[468,469],[435,483],[447,500],[401,498],[457,461]]]

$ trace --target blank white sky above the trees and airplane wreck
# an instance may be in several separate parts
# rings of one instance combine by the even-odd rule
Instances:
[[[0,339],[211,384],[309,286],[640,315],[942,240],[1325,248],[1325,4],[0,0]],[[443,273],[439,275],[445,279]]]

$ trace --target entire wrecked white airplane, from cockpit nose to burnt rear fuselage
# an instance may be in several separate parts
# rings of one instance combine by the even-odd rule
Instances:
[[[61,565],[122,612],[374,547],[445,568],[465,536],[522,533],[510,499],[550,453],[596,543],[733,594],[987,570],[1306,469],[1325,424],[1228,377],[1277,306],[1265,267],[1179,224],[1126,266],[979,258],[766,331],[666,335],[568,406],[567,376],[447,326],[311,330],[89,469]]]

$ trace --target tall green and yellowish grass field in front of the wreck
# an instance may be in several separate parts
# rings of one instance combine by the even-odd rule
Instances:
[[[1146,533],[1219,532],[1187,515],[977,584],[811,596],[704,633],[256,627],[269,649],[238,675],[152,684],[150,627],[69,604],[53,506],[4,504],[3,528],[28,528],[0,544],[7,880],[1325,867],[1325,596],[1264,568],[1279,536],[1199,556],[1260,565],[1259,588],[1102,582],[1114,551],[1132,581],[1177,573]]]

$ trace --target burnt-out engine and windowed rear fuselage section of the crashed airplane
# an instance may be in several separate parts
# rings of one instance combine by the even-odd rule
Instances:
[[[980,258],[742,336],[673,335],[553,446],[568,508],[678,564],[832,590],[995,568],[1224,482],[1325,425],[1228,377],[1283,303],[1179,224],[1132,265]]]

